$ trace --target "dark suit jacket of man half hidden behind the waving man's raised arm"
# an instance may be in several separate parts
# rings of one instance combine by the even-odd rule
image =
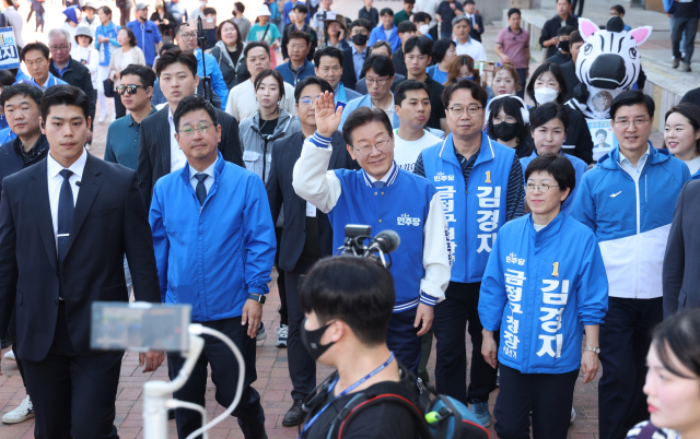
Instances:
[[[306,241],[306,201],[294,192],[292,173],[294,164],[302,154],[304,145],[303,133],[295,132],[283,139],[278,139],[272,145],[272,167],[267,182],[267,197],[270,202],[272,221],[277,223],[280,212],[284,211],[284,226],[280,241],[279,266],[283,271],[292,271],[296,266],[304,242]],[[355,162],[350,157],[342,134],[332,134],[332,154],[328,169],[354,169]],[[332,253],[332,228],[328,216],[320,211],[318,215],[318,244],[323,256]]]

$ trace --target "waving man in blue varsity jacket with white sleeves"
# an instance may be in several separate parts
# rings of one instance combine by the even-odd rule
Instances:
[[[328,214],[334,247],[342,246],[348,224],[366,224],[375,233],[393,229],[401,238],[392,253],[396,301],[387,344],[418,375],[421,336],[433,321],[433,307],[450,283],[447,222],[440,194],[422,177],[399,169],[394,161],[394,133],[386,112],[360,107],[346,119],[342,137],[360,170],[327,170],[342,108],[332,93],[315,102],[316,132],[304,141],[294,165],[296,194]],[[315,211],[314,211],[315,212]]]

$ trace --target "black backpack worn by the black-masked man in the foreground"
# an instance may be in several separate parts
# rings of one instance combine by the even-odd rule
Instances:
[[[402,375],[411,382],[416,377],[399,363]],[[311,395],[304,400],[302,408],[308,417],[325,405],[328,387],[338,377],[334,372],[326,378]],[[327,439],[341,439],[343,431],[357,419],[358,415],[377,404],[396,403],[406,408],[416,422],[416,438],[420,439],[489,439],[489,432],[479,424],[474,414],[462,403],[450,396],[438,394],[430,384],[419,384],[421,396],[413,395],[399,382],[382,382],[368,391],[353,394],[353,398],[338,413],[328,429]],[[425,418],[432,423],[429,424]],[[303,438],[302,438],[303,439]]]

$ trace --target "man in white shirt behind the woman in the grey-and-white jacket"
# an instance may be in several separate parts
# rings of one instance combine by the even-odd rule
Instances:
[[[245,63],[250,72],[250,79],[231,88],[226,103],[226,112],[241,121],[255,115],[260,108],[255,95],[255,79],[262,70],[270,69],[270,49],[265,41],[250,41],[243,49]],[[294,104],[294,87],[284,83],[284,97],[282,97],[282,108],[292,116],[296,116]]]

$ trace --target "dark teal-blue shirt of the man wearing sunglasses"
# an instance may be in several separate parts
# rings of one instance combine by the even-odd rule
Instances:
[[[151,107],[151,115],[156,112]],[[137,123],[131,115],[126,115],[109,124],[107,144],[105,145],[105,162],[118,163],[136,170],[139,157],[139,134],[141,123]]]

